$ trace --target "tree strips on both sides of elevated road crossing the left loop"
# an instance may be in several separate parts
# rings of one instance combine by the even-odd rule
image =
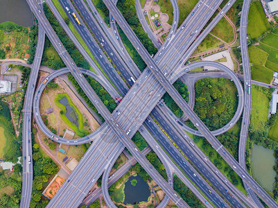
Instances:
[[[96,112],[96,114],[98,114],[98,110],[96,110],[96,107],[94,107],[94,104],[91,101],[89,101],[89,98],[87,97],[85,92],[83,92],[80,85],[78,85],[75,78],[73,78],[73,76],[71,74],[68,74],[67,77],[69,78],[69,80],[71,81],[73,86],[76,87],[78,94],[85,100],[85,102],[89,105],[89,107],[91,107],[92,110],[94,110],[94,112]],[[85,76],[85,78],[88,81],[89,85],[91,85],[91,87],[94,89],[94,92],[96,92],[98,97],[101,98],[101,101],[103,101],[103,103],[107,107],[107,109],[110,112],[113,112],[113,110],[116,108],[116,103],[112,99],[110,94],[108,94],[107,91],[98,82],[96,82],[96,80],[94,80],[93,78],[88,77],[88,76]],[[101,116],[101,114],[98,114],[98,116],[101,118],[102,121],[105,121],[103,119],[103,117]]]

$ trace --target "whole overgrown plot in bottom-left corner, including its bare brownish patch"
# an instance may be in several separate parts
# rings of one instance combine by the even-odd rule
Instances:
[[[16,164],[14,171],[15,173],[0,171],[0,207],[18,207],[21,198],[21,165]]]

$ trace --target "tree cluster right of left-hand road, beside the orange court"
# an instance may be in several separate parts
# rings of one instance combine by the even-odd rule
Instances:
[[[42,199],[42,191],[48,185],[48,180],[51,175],[57,173],[57,166],[52,159],[42,156],[42,153],[39,151],[39,145],[35,143],[34,136],[33,138],[33,170],[34,170],[34,179],[33,179],[33,189],[30,207],[46,207],[49,200]]]

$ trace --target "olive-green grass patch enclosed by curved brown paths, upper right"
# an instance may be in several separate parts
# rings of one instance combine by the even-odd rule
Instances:
[[[212,29],[211,34],[216,35],[216,37],[227,43],[234,40],[233,28],[225,18],[220,19],[218,24]]]

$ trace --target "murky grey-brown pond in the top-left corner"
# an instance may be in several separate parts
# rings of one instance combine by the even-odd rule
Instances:
[[[0,0],[0,23],[12,21],[24,27],[33,25],[33,17],[25,0]]]

